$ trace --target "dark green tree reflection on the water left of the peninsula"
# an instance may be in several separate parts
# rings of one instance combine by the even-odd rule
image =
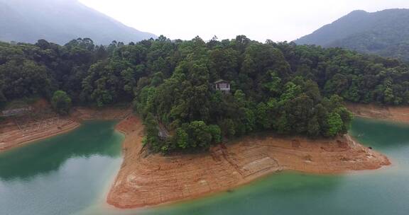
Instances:
[[[121,134],[113,121],[85,122],[67,134],[37,141],[0,154],[0,179],[26,180],[38,174],[59,170],[70,158],[121,155]]]

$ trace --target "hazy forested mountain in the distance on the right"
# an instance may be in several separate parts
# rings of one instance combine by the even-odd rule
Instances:
[[[353,11],[294,42],[344,47],[409,61],[409,9]]]

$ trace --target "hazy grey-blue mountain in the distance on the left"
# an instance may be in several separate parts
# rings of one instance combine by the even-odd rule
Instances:
[[[107,45],[156,35],[130,28],[77,0],[0,0],[0,41],[45,39],[63,45],[78,37]]]

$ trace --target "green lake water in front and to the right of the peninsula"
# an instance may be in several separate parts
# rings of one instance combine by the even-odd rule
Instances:
[[[346,175],[283,172],[232,192],[190,202],[126,211],[96,206],[81,214],[408,214],[409,126],[356,119],[351,135],[385,153],[393,165]]]

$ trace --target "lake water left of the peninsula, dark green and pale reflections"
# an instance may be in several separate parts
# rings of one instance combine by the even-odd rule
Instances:
[[[93,204],[121,163],[116,122],[85,122],[67,134],[0,154],[0,214],[72,214]]]

